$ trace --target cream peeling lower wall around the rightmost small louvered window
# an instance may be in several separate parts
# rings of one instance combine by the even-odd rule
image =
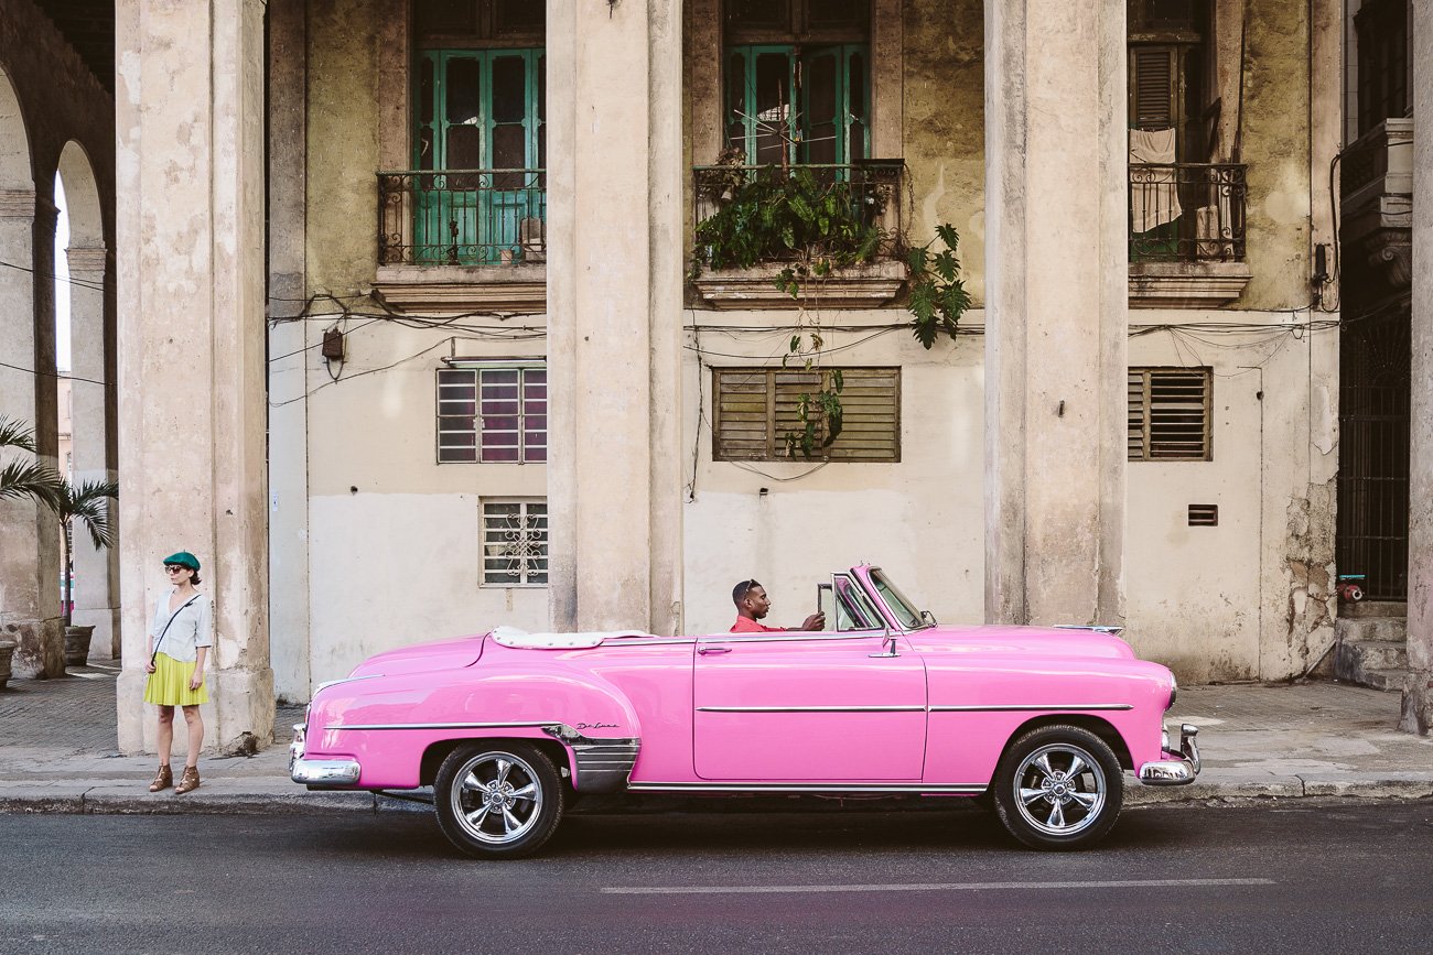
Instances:
[[[1231,314],[1144,311],[1138,321],[1181,316]],[[1131,461],[1128,471],[1125,637],[1187,683],[1294,676],[1333,640],[1336,420],[1328,382],[1311,391],[1308,369],[1334,339],[1265,339],[1250,331],[1227,338],[1240,348],[1211,348],[1161,332],[1129,345],[1132,367],[1214,369],[1212,460]],[[1217,504],[1218,527],[1189,527],[1189,504]]]

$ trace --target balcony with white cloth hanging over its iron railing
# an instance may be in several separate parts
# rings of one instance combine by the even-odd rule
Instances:
[[[1240,163],[1129,165],[1129,304],[1202,308],[1248,283]]]

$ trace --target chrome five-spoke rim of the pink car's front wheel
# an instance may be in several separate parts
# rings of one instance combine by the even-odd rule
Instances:
[[[1105,770],[1073,743],[1040,746],[1015,772],[1015,808],[1048,836],[1072,836],[1095,825],[1106,795]]]

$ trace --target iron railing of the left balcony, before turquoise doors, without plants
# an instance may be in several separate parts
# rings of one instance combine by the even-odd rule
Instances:
[[[380,265],[546,262],[543,169],[378,173]]]

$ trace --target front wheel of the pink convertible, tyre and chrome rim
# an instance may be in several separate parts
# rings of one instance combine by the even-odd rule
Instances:
[[[1113,750],[1079,726],[1042,726],[1000,757],[995,810],[1035,849],[1085,849],[1113,828],[1125,777]]]

